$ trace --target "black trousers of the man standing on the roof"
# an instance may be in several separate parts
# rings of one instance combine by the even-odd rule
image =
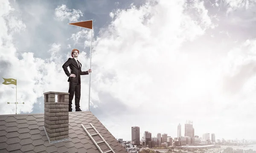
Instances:
[[[80,97],[81,97],[81,83],[69,82],[69,111],[72,111],[72,100],[75,94],[75,105],[76,110],[80,108]]]

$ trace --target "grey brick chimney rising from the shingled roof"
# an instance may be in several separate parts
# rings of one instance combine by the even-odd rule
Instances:
[[[58,95],[55,102],[55,95]],[[69,93],[44,93],[44,131],[50,143],[69,140]]]

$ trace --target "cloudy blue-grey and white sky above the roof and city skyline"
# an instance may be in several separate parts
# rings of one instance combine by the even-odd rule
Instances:
[[[93,20],[90,111],[117,139],[133,126],[174,138],[179,123],[184,136],[186,120],[200,137],[255,139],[255,10],[256,0],[1,0],[0,77],[17,79],[17,113],[43,113],[44,92],[68,92],[73,48],[90,67],[90,30],[68,23]],[[0,114],[15,101],[16,86],[0,84]]]

